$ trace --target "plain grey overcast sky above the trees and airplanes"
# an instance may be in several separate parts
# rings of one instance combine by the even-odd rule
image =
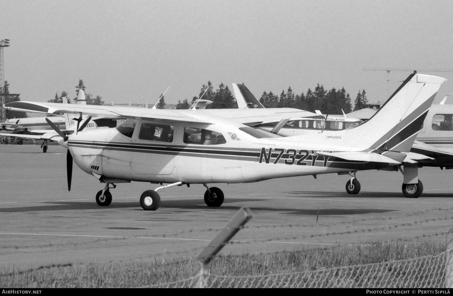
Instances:
[[[344,87],[383,103],[410,72],[453,93],[453,1],[0,0],[5,80],[23,101],[66,90],[110,103],[192,99],[211,80],[262,92]],[[387,82],[387,80],[390,80]],[[141,98],[145,98],[142,100]]]

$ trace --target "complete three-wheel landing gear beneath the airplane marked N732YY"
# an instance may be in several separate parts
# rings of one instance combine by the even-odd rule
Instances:
[[[110,184],[113,185],[113,187],[110,187]],[[169,185],[163,185],[155,190],[146,190],[142,195],[140,196],[140,206],[145,210],[145,211],[155,211],[159,208],[160,206],[160,196],[157,191],[159,189],[165,189],[169,188],[172,186],[181,186],[186,184],[187,187],[190,186],[188,183],[183,183],[183,182],[176,182],[172,183]],[[206,187],[206,192],[204,193],[204,202],[208,207],[220,207],[225,199],[225,196],[222,192],[221,189],[217,187],[211,187],[209,188],[206,183],[203,183],[203,185]],[[359,185],[360,186],[360,185]],[[106,187],[104,189],[100,190],[96,194],[96,203],[100,206],[108,206],[112,202],[112,195],[109,191],[109,189],[116,188],[116,185],[113,183],[106,183]]]

